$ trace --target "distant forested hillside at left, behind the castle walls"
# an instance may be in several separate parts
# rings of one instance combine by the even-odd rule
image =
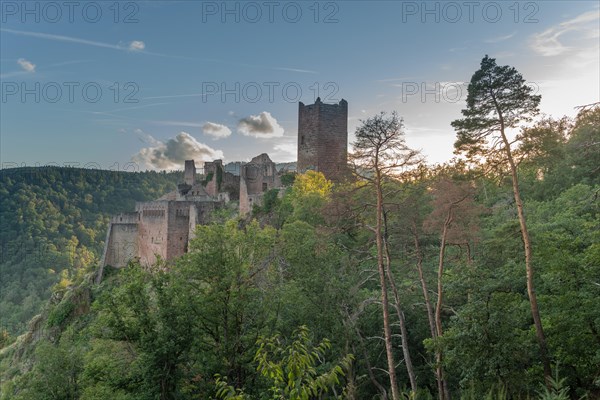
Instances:
[[[0,173],[0,328],[16,335],[61,276],[96,265],[112,214],[173,190],[180,173],[15,168]]]

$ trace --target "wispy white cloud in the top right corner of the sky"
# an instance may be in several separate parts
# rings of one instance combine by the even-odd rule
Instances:
[[[599,36],[599,20],[600,12],[598,10],[585,12],[541,33],[534,34],[530,40],[530,47],[533,51],[545,57],[561,55],[571,49],[563,43],[564,39],[563,41],[560,40],[561,36],[564,37],[567,32],[579,32],[581,37],[575,38],[573,40],[574,44],[581,39],[595,39]]]

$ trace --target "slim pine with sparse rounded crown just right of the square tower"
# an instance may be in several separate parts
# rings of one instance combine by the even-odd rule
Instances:
[[[356,130],[356,142],[354,142],[354,154],[352,155],[355,174],[366,182],[368,187],[374,190],[377,199],[375,205],[375,227],[371,227],[371,230],[375,234],[377,247],[377,270],[381,287],[384,340],[392,399],[394,400],[399,399],[399,393],[392,351],[386,264],[384,262],[386,252],[383,237],[383,185],[386,177],[396,175],[418,162],[418,152],[406,146],[402,128],[402,120],[398,118],[395,112],[389,117],[382,112],[368,118]]]

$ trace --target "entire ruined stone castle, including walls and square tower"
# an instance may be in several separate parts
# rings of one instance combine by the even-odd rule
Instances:
[[[299,104],[297,171],[313,169],[339,180],[346,170],[348,103]],[[239,213],[262,204],[264,194],[282,189],[276,164],[266,153],[241,164],[239,173],[226,172],[221,160],[204,163],[198,179],[194,160],[185,161],[183,182],[177,190],[155,201],[138,202],[135,211],[110,220],[98,281],[106,265],[124,267],[131,260],[148,266],[168,261],[188,251],[197,225],[210,222],[216,209],[239,201]]]

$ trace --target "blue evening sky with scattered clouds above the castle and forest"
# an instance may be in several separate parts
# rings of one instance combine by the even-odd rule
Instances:
[[[397,111],[430,163],[453,157],[487,54],[544,114],[600,100],[598,1],[6,1],[2,168],[181,169],[296,159],[298,102]]]

